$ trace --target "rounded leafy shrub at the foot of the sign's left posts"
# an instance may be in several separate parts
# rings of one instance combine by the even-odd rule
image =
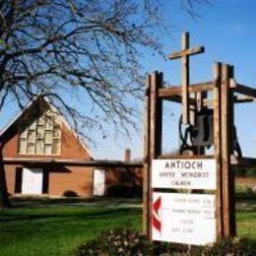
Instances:
[[[153,255],[153,244],[135,230],[117,228],[103,231],[95,240],[82,244],[78,256]]]

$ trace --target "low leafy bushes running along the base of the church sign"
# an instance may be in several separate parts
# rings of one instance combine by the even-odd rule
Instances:
[[[188,246],[179,243],[152,243],[138,231],[117,228],[103,231],[95,240],[82,244],[77,256],[253,256],[255,245],[244,238],[229,238],[207,246]]]

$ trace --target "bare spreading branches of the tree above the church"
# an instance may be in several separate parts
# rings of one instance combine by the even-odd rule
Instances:
[[[88,139],[81,128],[134,125],[141,49],[160,52],[159,8],[151,0],[0,0],[0,110],[8,97],[23,108],[42,95]],[[84,99],[78,107],[70,94]]]

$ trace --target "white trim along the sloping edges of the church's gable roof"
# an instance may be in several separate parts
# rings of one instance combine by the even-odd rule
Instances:
[[[1,131],[0,131],[0,136],[2,137],[4,135],[4,133],[25,113],[26,110],[28,110],[31,106],[32,103],[38,98],[38,96],[34,97],[34,99],[32,99],[25,107],[22,111],[20,111]],[[54,110],[57,113],[60,113],[59,110],[50,103],[49,99],[46,96],[43,96],[43,99],[49,104],[51,110]],[[91,150],[89,150],[89,148],[87,147],[87,145],[85,144],[85,142],[83,140],[79,139],[78,134],[74,131],[74,129],[72,129],[71,125],[69,124],[68,120],[62,116],[59,115],[61,118],[61,121],[66,125],[66,127],[73,133],[74,137],[76,138],[76,140],[79,141],[79,143],[81,144],[81,146],[84,148],[85,151],[87,151],[87,153],[90,155],[90,157],[92,159],[95,159],[94,154],[91,152]]]

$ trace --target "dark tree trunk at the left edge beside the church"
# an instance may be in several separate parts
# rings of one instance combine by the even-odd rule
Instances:
[[[5,168],[3,161],[3,143],[0,140],[0,208],[10,208],[10,200],[7,191]]]

